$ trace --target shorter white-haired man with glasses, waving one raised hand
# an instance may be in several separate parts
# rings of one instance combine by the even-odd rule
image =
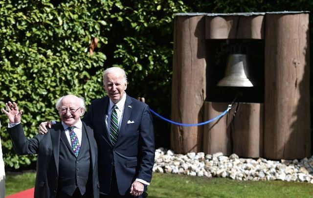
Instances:
[[[15,102],[5,104],[9,132],[17,154],[38,154],[35,198],[98,198],[97,144],[93,131],[81,121],[84,100],[75,95],[61,97],[56,103],[62,122],[26,139],[22,110]]]

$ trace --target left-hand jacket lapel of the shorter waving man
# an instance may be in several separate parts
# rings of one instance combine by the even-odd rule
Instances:
[[[61,125],[61,122],[59,122],[56,128],[51,129],[49,132],[49,134],[51,135],[51,142],[53,147],[52,150],[55,166],[57,167],[57,173],[59,173],[60,136],[62,131],[64,132],[64,129]]]

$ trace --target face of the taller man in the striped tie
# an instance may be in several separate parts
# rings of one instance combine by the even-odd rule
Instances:
[[[127,88],[127,81],[124,82],[122,72],[108,73],[104,82],[104,89],[107,91],[114,104],[118,103],[123,97]]]

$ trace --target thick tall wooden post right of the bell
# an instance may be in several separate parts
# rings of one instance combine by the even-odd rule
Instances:
[[[311,156],[309,14],[266,14],[264,155]]]

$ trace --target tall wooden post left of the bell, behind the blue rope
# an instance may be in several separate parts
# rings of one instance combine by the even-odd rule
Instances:
[[[203,16],[176,16],[172,82],[172,119],[202,122],[206,97]],[[203,127],[171,126],[171,149],[176,153],[202,151]]]

